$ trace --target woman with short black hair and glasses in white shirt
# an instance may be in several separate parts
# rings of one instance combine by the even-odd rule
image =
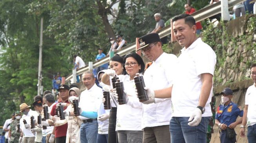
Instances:
[[[125,70],[128,75],[119,75],[119,79],[123,82],[126,99],[137,103],[133,106],[129,104],[118,105],[116,115],[116,130],[118,132],[119,143],[142,143],[143,131],[141,130],[142,120],[142,104],[139,102],[135,94],[134,77],[136,73],[143,73],[145,64],[136,53],[125,55]],[[129,97],[129,99],[128,99]]]

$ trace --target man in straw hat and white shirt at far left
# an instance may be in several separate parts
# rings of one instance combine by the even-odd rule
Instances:
[[[31,123],[31,116],[34,116],[35,123],[37,121],[38,113],[36,111],[32,111],[29,109],[30,106],[28,106],[25,103],[20,104],[20,112],[23,113],[22,118],[20,119],[20,129],[22,130],[22,135],[19,139],[19,143],[34,143],[35,134],[31,132],[30,123]],[[23,121],[26,121],[27,123],[24,124]],[[22,137],[23,136],[23,137]]]

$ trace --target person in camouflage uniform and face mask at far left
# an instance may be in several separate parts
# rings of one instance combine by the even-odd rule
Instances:
[[[11,132],[11,136],[9,136],[10,143],[18,143],[20,138],[20,132],[16,131],[17,123],[20,123],[20,118],[21,118],[20,112],[15,113],[15,118],[16,120],[13,120],[10,126],[10,132]]]

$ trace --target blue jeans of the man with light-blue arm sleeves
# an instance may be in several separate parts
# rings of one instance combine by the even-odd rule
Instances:
[[[98,135],[98,122],[82,123],[80,127],[81,143],[96,143]]]

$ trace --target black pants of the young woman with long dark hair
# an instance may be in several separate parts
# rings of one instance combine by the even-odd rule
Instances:
[[[118,135],[116,132],[116,107],[111,107],[109,113],[109,133],[108,133],[108,143],[118,143]]]

